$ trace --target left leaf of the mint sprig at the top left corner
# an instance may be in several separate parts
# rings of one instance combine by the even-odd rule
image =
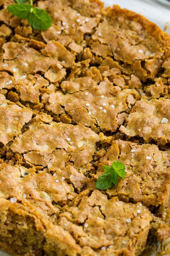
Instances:
[[[31,4],[17,3],[7,7],[8,11],[20,19],[26,19],[31,10]]]

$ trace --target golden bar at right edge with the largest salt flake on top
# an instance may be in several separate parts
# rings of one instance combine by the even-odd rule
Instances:
[[[120,131],[130,137],[143,137],[145,142],[153,139],[159,145],[165,145],[170,142],[170,123],[162,123],[163,118],[170,120],[170,99],[142,97],[132,108]]]

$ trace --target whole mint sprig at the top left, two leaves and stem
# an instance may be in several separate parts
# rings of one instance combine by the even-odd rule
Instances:
[[[52,19],[49,14],[38,7],[33,7],[33,2],[25,4],[28,0],[16,0],[17,4],[8,6],[8,11],[20,19],[28,19],[29,24],[40,30],[46,30],[51,26]]]

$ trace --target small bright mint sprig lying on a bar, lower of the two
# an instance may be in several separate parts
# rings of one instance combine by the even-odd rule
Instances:
[[[112,167],[104,165],[104,174],[99,175],[99,178],[96,182],[96,188],[101,190],[112,187],[113,185],[117,185],[118,176],[121,178],[125,178],[125,166],[119,161],[115,161],[112,164]]]

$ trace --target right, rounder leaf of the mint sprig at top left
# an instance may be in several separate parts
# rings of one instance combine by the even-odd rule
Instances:
[[[46,11],[35,7],[28,15],[28,22],[35,29],[46,30],[51,26],[52,19]]]

